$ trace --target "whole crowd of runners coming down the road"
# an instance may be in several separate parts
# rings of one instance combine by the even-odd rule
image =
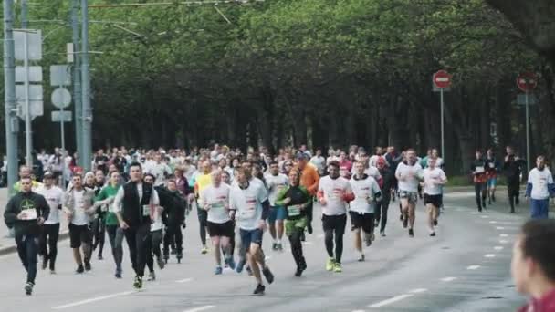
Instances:
[[[487,157],[476,151],[470,171],[478,211],[496,201],[497,175],[502,172],[508,175],[512,212],[518,204],[520,180],[509,178],[522,172],[524,162],[512,149],[507,152],[503,161],[497,161],[491,150]],[[319,220],[328,255],[325,267],[336,273],[342,271],[348,215],[359,261],[364,261],[365,247],[378,234],[386,236],[388,209],[396,200],[410,237],[415,234],[418,199],[427,211],[427,234],[436,235],[447,182],[437,150],[419,158],[413,149],[377,147],[369,153],[352,146],[348,151],[330,149],[326,155],[305,145],[281,149],[275,155],[264,147],[242,152],[217,144],[188,152],[121,147],[99,150],[91,163],[93,170],[83,172],[76,165],[76,155],[58,149],[53,155],[42,151],[34,168],[20,167],[20,180],[14,185],[17,193],[4,213],[5,223],[15,230],[17,251],[26,268],[26,294],[32,294],[37,263],[56,274],[62,218],[68,220],[77,274],[92,269],[93,257],[103,259],[107,233],[114,276],[122,278],[125,240],[135,274],[133,286],[139,289],[143,276],[156,278],[155,265],[163,269],[172,256],[181,261],[185,218],[194,212],[200,225],[200,253],[214,254],[215,275],[225,267],[237,273],[245,269],[256,279],[256,295],[264,294],[265,284],[274,281],[262,249],[266,230],[273,251],[282,251],[288,239],[295,276],[307,269],[301,242],[312,234],[313,226],[320,226]],[[538,202],[532,205],[541,214],[542,201],[549,203],[555,188],[543,158],[534,170],[527,195]],[[315,204],[321,217],[313,211]]]

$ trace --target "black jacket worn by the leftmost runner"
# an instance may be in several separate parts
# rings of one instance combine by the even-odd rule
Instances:
[[[37,220],[19,220],[17,215],[23,210],[36,209],[37,217],[48,219],[50,207],[47,200],[36,192],[18,192],[5,206],[4,220],[8,227],[14,227],[16,235],[39,234]]]

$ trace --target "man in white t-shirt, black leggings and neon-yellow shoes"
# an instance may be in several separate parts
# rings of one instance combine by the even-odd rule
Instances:
[[[341,272],[343,255],[343,234],[347,224],[347,203],[354,199],[349,181],[340,177],[340,163],[331,161],[327,175],[320,179],[318,201],[322,206],[322,225],[324,228],[326,251],[329,258],[326,270]],[[335,257],[333,240],[335,235]]]

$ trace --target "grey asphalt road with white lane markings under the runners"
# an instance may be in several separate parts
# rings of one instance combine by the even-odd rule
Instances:
[[[145,282],[139,292],[131,286],[127,251],[121,280],[113,277],[110,246],[105,260],[95,259],[91,272],[76,276],[68,241],[64,241],[58,251],[58,275],[39,271],[30,297],[24,295],[24,270],[17,256],[0,257],[4,272],[0,311],[98,312],[114,307],[133,312],[514,311],[526,299],[512,286],[511,247],[527,213],[522,209],[509,214],[503,203],[484,213],[473,207],[472,192],[446,194],[438,235],[429,237],[419,203],[415,237],[410,238],[392,203],[387,237],[378,237],[367,249],[366,262],[356,261],[351,233],[345,235],[340,274],[324,269],[327,255],[321,226],[315,227],[315,234],[308,235],[303,246],[309,269],[300,278],[293,276],[290,252],[271,251],[267,234],[264,249],[276,281],[267,286],[266,296],[250,295],[256,285],[245,273],[225,270],[222,276],[213,275],[212,254],[200,255],[195,215],[184,230],[183,263],[172,260],[158,270],[157,281]]]

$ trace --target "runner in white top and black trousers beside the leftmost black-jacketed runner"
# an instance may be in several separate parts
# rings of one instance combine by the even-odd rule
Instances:
[[[38,255],[42,257],[42,269],[46,270],[50,263],[50,274],[56,274],[56,256],[58,255],[58,235],[59,235],[59,210],[62,209],[64,192],[54,185],[55,177],[52,172],[44,173],[44,186],[37,190],[48,203],[49,214],[47,221],[42,225]]]

